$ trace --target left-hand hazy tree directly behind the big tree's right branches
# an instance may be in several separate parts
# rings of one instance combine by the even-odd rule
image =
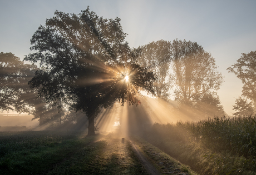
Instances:
[[[160,40],[138,48],[140,56],[137,62],[155,74],[157,78],[154,83],[156,95],[165,100],[169,98],[170,89],[170,83],[168,82],[171,63],[170,46],[169,41]]]

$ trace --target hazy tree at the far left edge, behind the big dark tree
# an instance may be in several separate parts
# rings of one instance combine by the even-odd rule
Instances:
[[[24,64],[13,53],[0,53],[0,110],[31,112],[28,99],[33,93],[28,81],[35,75],[36,66]]]

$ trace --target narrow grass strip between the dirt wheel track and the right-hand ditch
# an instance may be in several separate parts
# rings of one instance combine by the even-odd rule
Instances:
[[[144,154],[147,159],[163,174],[191,174],[195,175],[188,166],[180,163],[176,159],[170,157],[159,148],[153,146],[149,142],[138,136],[132,136],[132,141],[136,144],[136,147]]]

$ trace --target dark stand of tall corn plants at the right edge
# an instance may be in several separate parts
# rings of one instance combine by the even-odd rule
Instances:
[[[181,123],[194,138],[214,151],[229,151],[245,158],[256,156],[256,116],[214,117],[197,123]]]

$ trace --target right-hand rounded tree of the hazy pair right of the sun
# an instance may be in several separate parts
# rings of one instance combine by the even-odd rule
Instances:
[[[215,59],[196,42],[174,40],[171,55],[170,82],[175,87],[175,101],[191,106],[219,89],[223,76],[217,71]]]

